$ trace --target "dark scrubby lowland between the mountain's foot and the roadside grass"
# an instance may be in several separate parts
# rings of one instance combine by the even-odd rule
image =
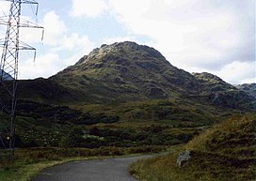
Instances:
[[[197,105],[193,109],[189,105],[154,100],[71,109],[20,101],[16,146],[95,148],[186,143],[220,116],[215,115],[214,108],[204,113],[197,110]],[[5,113],[2,115],[0,127],[7,127],[8,118]]]

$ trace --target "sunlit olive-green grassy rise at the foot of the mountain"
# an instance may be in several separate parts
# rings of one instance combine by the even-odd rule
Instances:
[[[219,117],[232,114],[232,110],[223,111],[212,105],[205,105],[189,99],[169,98],[166,100],[144,100],[112,105],[73,105],[73,109],[89,113],[105,113],[120,116],[116,126],[136,127],[149,124],[172,127],[199,127],[212,125]],[[202,110],[201,107],[204,109]],[[222,110],[222,111],[221,111]],[[129,124],[130,123],[130,124]]]

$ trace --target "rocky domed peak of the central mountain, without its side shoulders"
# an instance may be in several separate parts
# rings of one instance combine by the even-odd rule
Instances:
[[[170,65],[158,51],[127,41],[94,49],[50,80],[83,92],[88,101],[102,103],[181,97],[197,93],[200,86],[194,76]]]

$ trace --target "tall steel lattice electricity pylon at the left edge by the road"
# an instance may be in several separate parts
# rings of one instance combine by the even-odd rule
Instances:
[[[19,51],[36,49],[25,44],[20,40],[20,28],[32,27],[42,28],[36,23],[24,21],[21,18],[22,4],[36,5],[36,15],[39,4],[34,0],[5,0],[10,2],[8,16],[0,17],[0,24],[7,26],[6,37],[0,40],[0,46],[3,49],[0,62],[0,106],[5,114],[8,115],[8,135],[6,136],[9,149],[9,157],[14,157],[15,148],[15,113],[17,104],[17,80]],[[35,58],[35,56],[34,56]],[[1,132],[1,131],[0,131]],[[0,135],[1,136],[1,135]],[[1,139],[3,140],[3,139]],[[4,143],[4,142],[2,142]]]

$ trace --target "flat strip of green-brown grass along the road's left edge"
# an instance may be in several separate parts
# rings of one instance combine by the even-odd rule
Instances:
[[[29,181],[44,168],[56,164],[99,157],[157,153],[165,149],[165,146],[101,147],[96,149],[53,147],[20,149],[15,151],[15,160],[11,164],[5,161],[3,157],[0,157],[0,180]],[[0,156],[3,156],[1,152]]]

